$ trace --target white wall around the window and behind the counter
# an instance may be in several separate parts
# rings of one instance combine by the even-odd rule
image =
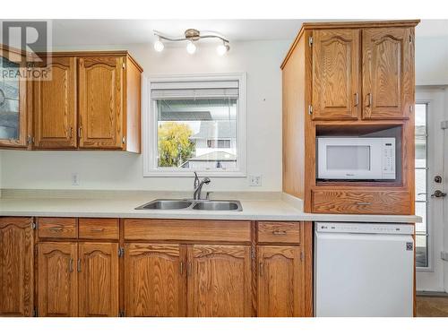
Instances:
[[[211,179],[208,190],[281,190],[281,72],[280,63],[291,41],[231,43],[227,56],[201,46],[194,56],[185,48],[153,51],[151,45],[95,47],[128,49],[144,73],[247,73],[247,173],[263,175],[261,187],[246,177]],[[77,47],[88,49],[92,47]],[[68,48],[65,48],[68,49]],[[22,189],[151,189],[192,190],[190,177],[142,177],[142,155],[123,152],[4,151],[2,187]],[[78,173],[79,186],[71,175]]]

